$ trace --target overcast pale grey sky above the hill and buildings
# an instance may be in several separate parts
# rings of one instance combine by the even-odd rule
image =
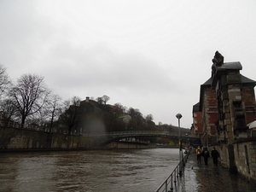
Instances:
[[[0,0],[0,63],[63,100],[107,95],[154,122],[192,124],[216,50],[256,80],[255,0]]]

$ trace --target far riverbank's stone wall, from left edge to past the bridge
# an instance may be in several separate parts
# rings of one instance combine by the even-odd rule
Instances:
[[[91,137],[0,127],[0,152],[158,148],[155,143],[112,142],[97,148]]]

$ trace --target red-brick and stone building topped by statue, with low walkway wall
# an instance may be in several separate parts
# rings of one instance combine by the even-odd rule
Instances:
[[[221,164],[256,180],[256,137],[248,125],[256,119],[256,82],[241,75],[240,62],[225,62],[215,53],[212,77],[201,84],[202,143],[216,146]]]

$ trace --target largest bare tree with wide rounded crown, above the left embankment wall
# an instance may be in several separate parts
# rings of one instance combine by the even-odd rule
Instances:
[[[9,98],[20,113],[22,127],[27,117],[40,112],[48,96],[49,90],[43,77],[24,74],[18,79],[17,84],[9,91]]]

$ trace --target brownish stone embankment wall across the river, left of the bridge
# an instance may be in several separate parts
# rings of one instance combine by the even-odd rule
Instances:
[[[0,127],[0,151],[87,149],[90,137]]]

